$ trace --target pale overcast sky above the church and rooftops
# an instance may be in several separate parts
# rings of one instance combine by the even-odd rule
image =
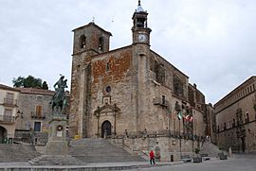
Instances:
[[[255,0],[141,0],[151,49],[216,103],[256,73]],[[71,77],[72,29],[95,23],[111,49],[132,43],[137,0],[0,0],[0,83],[41,77],[50,89]],[[70,86],[69,86],[70,87]]]

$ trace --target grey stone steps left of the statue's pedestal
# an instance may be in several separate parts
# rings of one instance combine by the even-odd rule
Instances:
[[[38,155],[32,145],[0,144],[0,162],[28,162]]]

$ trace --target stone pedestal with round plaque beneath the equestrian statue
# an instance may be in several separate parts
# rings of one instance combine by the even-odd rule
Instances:
[[[46,155],[67,155],[68,146],[65,139],[66,116],[63,114],[54,114],[49,125]]]

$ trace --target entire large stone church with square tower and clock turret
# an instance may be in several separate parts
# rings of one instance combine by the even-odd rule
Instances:
[[[112,34],[95,23],[73,30],[70,136],[205,136],[205,96],[150,48],[147,16],[139,3],[132,18],[132,44],[114,50],[109,50]],[[177,113],[183,117],[178,119]]]

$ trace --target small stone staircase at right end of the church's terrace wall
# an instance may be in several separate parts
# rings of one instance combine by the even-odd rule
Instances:
[[[210,142],[205,142],[204,145],[201,147],[200,154],[208,154],[210,157],[217,157],[218,153],[221,152],[227,154],[226,151],[220,150],[217,145],[213,145]]]

